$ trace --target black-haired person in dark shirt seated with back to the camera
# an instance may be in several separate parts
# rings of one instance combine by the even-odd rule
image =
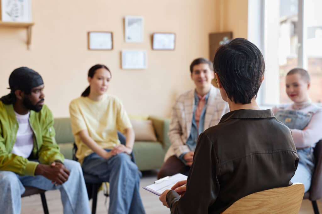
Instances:
[[[173,214],[222,213],[246,195],[288,186],[298,164],[289,128],[256,103],[260,50],[236,38],[218,48],[213,64],[230,112],[199,135],[188,180],[161,194]]]

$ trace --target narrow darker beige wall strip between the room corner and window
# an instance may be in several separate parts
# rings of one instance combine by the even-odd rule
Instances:
[[[221,30],[232,31],[233,38],[247,39],[248,0],[220,0],[223,8]]]

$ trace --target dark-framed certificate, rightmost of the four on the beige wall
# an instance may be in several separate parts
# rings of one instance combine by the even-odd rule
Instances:
[[[174,50],[175,33],[154,33],[152,36],[153,50]]]

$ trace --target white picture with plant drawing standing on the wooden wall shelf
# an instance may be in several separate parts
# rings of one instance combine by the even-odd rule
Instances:
[[[31,0],[0,0],[1,21],[31,22]]]

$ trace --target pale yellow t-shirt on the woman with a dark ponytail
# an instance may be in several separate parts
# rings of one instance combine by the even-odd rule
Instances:
[[[90,137],[103,149],[113,149],[120,144],[117,131],[131,128],[128,115],[118,98],[104,95],[100,101],[93,101],[88,97],[79,97],[69,105],[71,129],[77,145],[76,157],[82,164],[86,156],[93,153],[81,141],[78,133],[88,131]]]

